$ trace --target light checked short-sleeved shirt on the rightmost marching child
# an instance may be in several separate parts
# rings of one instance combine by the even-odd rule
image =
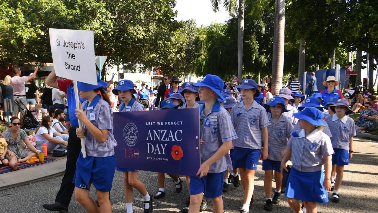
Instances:
[[[332,147],[335,149],[349,150],[349,136],[356,136],[356,127],[354,120],[345,115],[341,119],[336,114],[327,116],[325,118],[333,133],[331,138]]]

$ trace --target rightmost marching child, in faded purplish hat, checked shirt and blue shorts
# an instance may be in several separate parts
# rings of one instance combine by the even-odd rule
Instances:
[[[334,183],[332,202],[338,203],[340,201],[339,188],[344,176],[344,166],[349,165],[349,160],[353,156],[353,136],[356,136],[356,129],[354,120],[348,116],[353,113],[349,108],[348,100],[339,99],[330,108],[335,114],[326,117],[325,121],[332,131],[331,142],[335,152],[332,155],[331,181],[333,182],[336,176],[336,183]]]

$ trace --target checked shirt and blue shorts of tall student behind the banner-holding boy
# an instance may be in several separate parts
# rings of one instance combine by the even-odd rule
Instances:
[[[262,147],[261,128],[270,125],[266,111],[256,101],[246,109],[242,101],[232,107],[230,115],[238,136],[234,141],[232,166],[256,170]]]

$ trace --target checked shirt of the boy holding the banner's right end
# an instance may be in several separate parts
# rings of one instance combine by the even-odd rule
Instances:
[[[224,142],[237,139],[229,113],[219,102],[215,102],[211,111],[203,113],[204,104],[200,108],[200,134],[203,139],[201,146],[201,164],[211,158]],[[210,165],[209,172],[218,173],[232,169],[231,158],[228,153]]]

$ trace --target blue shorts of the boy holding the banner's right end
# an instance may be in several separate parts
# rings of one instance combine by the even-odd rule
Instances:
[[[199,176],[191,176],[189,182],[190,195],[205,193],[205,197],[210,199],[222,196],[224,177],[225,172],[209,172],[208,175],[202,178]]]

